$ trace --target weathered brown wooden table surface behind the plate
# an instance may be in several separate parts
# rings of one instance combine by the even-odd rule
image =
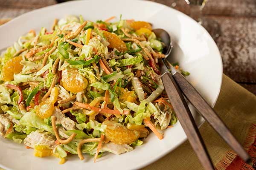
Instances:
[[[190,14],[184,0],[152,0]],[[176,6],[174,6],[176,2]],[[0,19],[17,17],[55,0],[0,0]],[[256,0],[208,0],[203,20],[219,26],[205,26],[221,51],[224,74],[256,94]]]

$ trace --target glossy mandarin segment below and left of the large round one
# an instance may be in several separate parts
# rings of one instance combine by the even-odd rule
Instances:
[[[54,110],[54,103],[50,100],[50,98],[41,102],[36,108],[35,113],[41,119],[48,118],[52,116]]]

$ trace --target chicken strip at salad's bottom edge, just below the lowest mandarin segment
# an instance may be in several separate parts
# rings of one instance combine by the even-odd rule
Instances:
[[[128,144],[114,144],[113,142],[104,143],[102,145],[102,151],[108,151],[116,155],[120,155],[125,152],[130,152],[133,150]]]

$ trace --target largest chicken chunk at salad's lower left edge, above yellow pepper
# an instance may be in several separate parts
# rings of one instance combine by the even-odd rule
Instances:
[[[54,149],[57,146],[55,141],[55,137],[50,133],[33,131],[24,139],[24,144],[32,148],[35,148],[35,146],[38,145],[43,145],[50,149]]]

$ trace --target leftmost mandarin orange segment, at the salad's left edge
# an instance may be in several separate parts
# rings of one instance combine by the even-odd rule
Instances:
[[[21,60],[22,60],[22,57],[18,56],[6,62],[6,64],[3,66],[3,72],[2,72],[3,81],[5,82],[12,81],[13,75],[20,73],[20,71],[22,71],[23,65],[20,64]]]

